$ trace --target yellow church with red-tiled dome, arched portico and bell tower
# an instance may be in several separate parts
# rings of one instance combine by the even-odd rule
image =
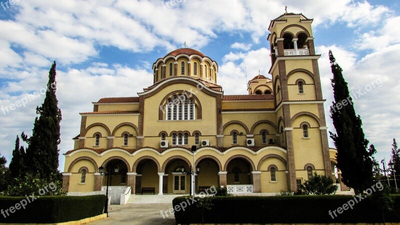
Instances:
[[[81,112],[67,151],[68,192],[131,187],[132,194],[198,193],[224,186],[240,193],[294,191],[313,172],[334,178],[312,19],[284,13],[268,30],[269,74],[248,94],[218,85],[218,64],[191,48],[156,59],[153,83],[137,96],[104,97]],[[185,174],[191,172],[191,175]],[[340,180],[340,177],[339,177]],[[194,185],[193,185],[194,183]]]

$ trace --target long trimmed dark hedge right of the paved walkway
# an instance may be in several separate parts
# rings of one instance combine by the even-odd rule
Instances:
[[[386,222],[400,222],[400,195],[392,195],[394,210],[384,212]],[[358,197],[355,196],[358,200]],[[364,196],[363,196],[364,197]],[[190,202],[188,197],[176,197],[172,204]],[[382,222],[382,211],[367,196],[353,209],[348,208],[332,218],[328,211],[342,207],[354,196],[300,195],[300,196],[214,196],[210,210],[204,209],[204,223],[356,223]],[[201,223],[201,208],[195,203],[175,211],[176,223]],[[334,216],[334,215],[333,215]]]

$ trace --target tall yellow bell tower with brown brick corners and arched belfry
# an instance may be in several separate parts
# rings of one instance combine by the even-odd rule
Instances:
[[[289,189],[307,179],[307,166],[331,176],[322,90],[312,19],[284,13],[268,30],[274,104],[281,145],[287,149]]]

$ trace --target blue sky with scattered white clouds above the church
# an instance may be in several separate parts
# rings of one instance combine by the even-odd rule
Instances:
[[[284,12],[313,18],[325,114],[332,101],[332,49],[353,93],[377,158],[400,138],[400,7],[392,0],[0,0],[0,152],[8,162],[15,136],[31,133],[57,62],[62,153],[73,148],[79,112],[101,97],[136,96],[152,83],[151,65],[186,46],[219,65],[225,94],[246,94],[248,78],[270,67],[268,25]],[[14,4],[10,4],[14,3]],[[24,105],[9,109],[24,99]],[[8,107],[6,110],[5,107]],[[400,139],[399,139],[400,140]],[[330,146],[333,146],[330,140]]]

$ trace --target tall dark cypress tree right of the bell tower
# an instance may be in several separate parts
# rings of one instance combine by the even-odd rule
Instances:
[[[372,184],[371,157],[376,150],[373,145],[367,149],[369,141],[364,137],[361,118],[355,114],[343,70],[330,50],[329,60],[334,95],[330,113],[336,129],[335,134],[329,133],[337,149],[337,167],[341,170],[343,183],[360,193]]]

